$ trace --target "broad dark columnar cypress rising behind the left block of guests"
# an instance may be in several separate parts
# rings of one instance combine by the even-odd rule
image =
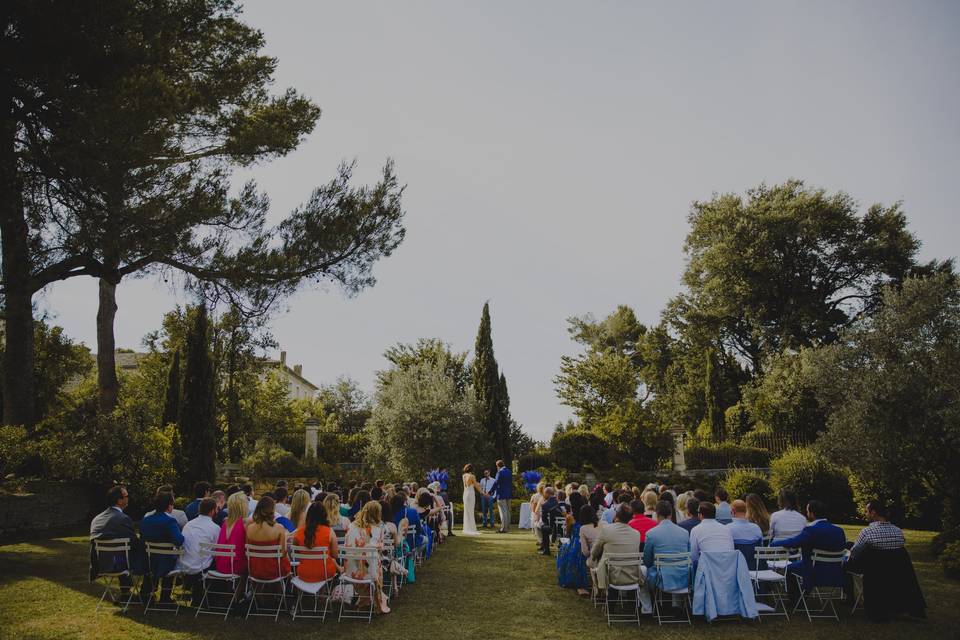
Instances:
[[[188,312],[189,330],[183,374],[183,400],[177,423],[180,459],[175,460],[182,486],[212,481],[216,473],[217,421],[214,407],[213,359],[207,308],[199,304]]]

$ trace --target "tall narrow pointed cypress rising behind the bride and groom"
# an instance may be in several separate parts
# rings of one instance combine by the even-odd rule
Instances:
[[[509,463],[509,399],[505,397],[506,379],[501,378],[497,359],[493,355],[489,302],[483,305],[473,355],[473,389],[480,408],[480,425],[493,447],[493,454]]]

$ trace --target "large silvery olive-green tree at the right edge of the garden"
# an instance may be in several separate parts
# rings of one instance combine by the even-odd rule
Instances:
[[[829,412],[818,446],[849,467],[864,494],[908,516],[915,492],[960,515],[960,285],[953,275],[910,278],[841,343],[817,352],[817,397]],[[951,521],[952,520],[952,521]]]

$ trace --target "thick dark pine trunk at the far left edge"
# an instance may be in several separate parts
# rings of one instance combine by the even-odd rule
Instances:
[[[4,101],[6,107],[9,101]],[[3,423],[32,426],[36,420],[33,375],[33,287],[20,179],[14,153],[14,122],[3,120],[0,157],[0,245],[3,264]]]

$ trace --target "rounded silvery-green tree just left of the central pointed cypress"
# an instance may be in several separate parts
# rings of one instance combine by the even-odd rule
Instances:
[[[378,374],[365,434],[367,459],[397,478],[422,478],[431,468],[456,469],[483,459],[473,389],[461,389],[448,358],[424,358]]]

